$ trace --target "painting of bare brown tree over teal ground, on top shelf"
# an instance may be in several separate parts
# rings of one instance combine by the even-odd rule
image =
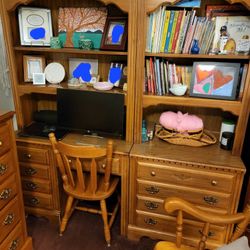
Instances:
[[[91,40],[99,49],[107,18],[107,9],[59,8],[58,32],[63,47],[79,48],[79,41]]]

